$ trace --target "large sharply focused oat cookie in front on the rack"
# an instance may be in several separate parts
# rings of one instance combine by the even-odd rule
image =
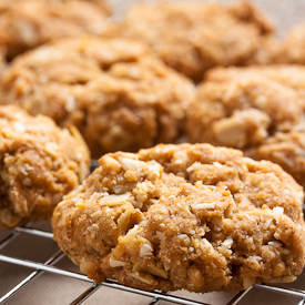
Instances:
[[[52,217],[54,240],[94,281],[211,292],[302,272],[304,194],[278,165],[210,144],[111,153],[100,164]]]

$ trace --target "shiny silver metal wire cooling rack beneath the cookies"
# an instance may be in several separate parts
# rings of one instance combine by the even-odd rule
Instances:
[[[92,161],[92,166],[91,171],[98,166],[98,161],[93,160]],[[18,283],[16,286],[13,286],[9,292],[7,292],[3,296],[0,295],[0,305],[7,303],[9,299],[11,299],[14,295],[20,293],[27,285],[31,284],[34,279],[38,279],[43,273],[50,273],[53,275],[61,275],[70,278],[74,278],[77,281],[82,281],[90,283],[91,285],[89,288],[87,288],[83,293],[77,294],[74,301],[70,303],[64,303],[64,304],[70,304],[70,305],[78,305],[82,304],[84,301],[89,298],[89,304],[90,303],[90,296],[94,294],[100,287],[104,286],[106,288],[112,288],[116,291],[123,291],[128,293],[134,294],[134,297],[136,295],[142,295],[149,298],[149,302],[145,304],[149,305],[154,305],[154,304],[160,304],[162,302],[167,302],[166,304],[183,304],[183,305],[212,305],[211,303],[205,303],[205,302],[199,302],[192,298],[185,298],[172,294],[165,294],[162,292],[146,292],[146,291],[140,291],[131,287],[126,287],[123,285],[118,284],[115,281],[108,279],[101,284],[95,284],[93,281],[89,279],[84,274],[69,271],[65,267],[57,267],[54,266],[58,262],[60,262],[63,257],[65,257],[65,254],[60,251],[59,248],[55,250],[55,253],[53,253],[47,261],[45,263],[39,263],[37,261],[29,261],[24,258],[19,258],[18,253],[14,253],[14,255],[3,255],[2,251],[8,247],[13,241],[20,236],[20,235],[29,235],[31,237],[39,236],[40,238],[44,240],[52,240],[53,234],[43,230],[38,230],[33,227],[32,223],[29,223],[28,225],[23,227],[17,227],[12,232],[10,232],[6,237],[0,240],[0,263],[9,263],[9,264],[14,264],[18,266],[23,266],[28,267],[31,270],[34,270],[30,275],[28,275],[24,279],[22,279],[20,283]],[[4,278],[0,277],[0,287],[1,287],[1,282],[4,281]],[[305,286],[305,283],[304,283]],[[291,287],[279,287],[279,286],[273,286],[273,285],[256,285],[254,287],[250,287],[246,291],[243,292],[237,292],[235,295],[230,297],[228,301],[226,301],[226,305],[235,305],[235,304],[242,304],[246,297],[251,295],[253,289],[261,288],[264,292],[263,298],[265,296],[267,297],[268,294],[274,294],[274,293],[279,293],[282,295],[289,296],[292,302],[288,301],[288,304],[296,304],[296,305],[305,305],[305,291],[303,289],[297,289],[297,288],[291,288]],[[252,299],[253,301],[253,299]],[[39,301],[40,302],[40,301]],[[14,303],[13,303],[14,304]],[[18,303],[19,304],[19,303]],[[38,304],[42,304],[41,302]],[[63,304],[63,303],[61,303]],[[95,304],[95,303],[94,303]],[[142,303],[141,303],[142,304]],[[217,304],[217,303],[213,303]],[[248,303],[244,303],[248,304]],[[254,304],[252,302],[252,304]],[[271,304],[270,302],[266,304]],[[277,304],[277,303],[274,303]],[[287,304],[287,303],[283,303]]]

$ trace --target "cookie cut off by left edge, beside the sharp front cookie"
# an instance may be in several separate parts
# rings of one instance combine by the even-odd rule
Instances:
[[[0,106],[0,227],[50,220],[62,196],[88,175],[89,164],[77,129]]]

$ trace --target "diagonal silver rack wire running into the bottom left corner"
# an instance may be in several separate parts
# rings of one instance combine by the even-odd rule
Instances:
[[[53,265],[57,262],[59,262],[64,256],[64,253],[62,251],[58,251],[51,258],[49,258],[44,265]],[[38,278],[40,275],[42,275],[41,270],[37,270],[33,273],[31,273],[29,276],[27,276],[23,281],[21,281],[18,285],[16,285],[11,291],[9,291],[6,295],[3,295],[0,298],[0,304],[4,304],[7,301],[9,301],[14,294],[17,294],[19,291],[24,288],[34,278]]]

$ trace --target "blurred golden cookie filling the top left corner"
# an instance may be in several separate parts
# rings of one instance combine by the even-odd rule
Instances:
[[[52,39],[106,35],[109,16],[103,0],[0,0],[0,45],[11,60]]]

